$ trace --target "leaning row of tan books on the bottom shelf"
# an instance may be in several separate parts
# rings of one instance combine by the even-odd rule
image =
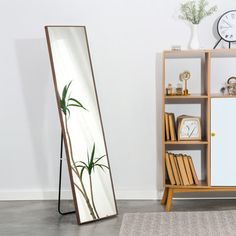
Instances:
[[[171,185],[199,184],[191,156],[166,152],[165,163]]]

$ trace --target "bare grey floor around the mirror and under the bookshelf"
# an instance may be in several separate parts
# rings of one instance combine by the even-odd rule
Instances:
[[[75,215],[60,216],[56,201],[0,202],[0,236],[113,236],[126,212],[164,211],[159,201],[118,201],[119,215],[79,226]],[[73,209],[71,201],[63,207]],[[236,210],[236,200],[176,200],[173,211]]]

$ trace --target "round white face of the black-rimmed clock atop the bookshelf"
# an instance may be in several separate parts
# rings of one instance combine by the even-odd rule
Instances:
[[[218,33],[225,41],[236,41],[236,10],[224,13],[218,21]]]

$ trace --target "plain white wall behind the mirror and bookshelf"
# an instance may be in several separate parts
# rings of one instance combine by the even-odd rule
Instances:
[[[60,127],[43,29],[49,24],[87,27],[117,197],[157,197],[159,56],[190,38],[177,18],[179,2],[0,1],[0,199],[56,197]],[[205,48],[215,44],[215,19],[236,6],[211,3],[219,11],[200,26]]]

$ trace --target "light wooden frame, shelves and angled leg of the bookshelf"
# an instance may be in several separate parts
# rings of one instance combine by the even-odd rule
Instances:
[[[215,49],[215,50],[184,50],[184,51],[164,51],[162,58],[162,171],[163,171],[163,185],[164,194],[162,198],[162,204],[166,206],[166,211],[170,211],[172,197],[177,192],[227,192],[236,191],[236,186],[212,186],[211,185],[211,99],[212,98],[236,98],[236,96],[223,95],[220,93],[211,93],[211,63],[212,58],[215,57],[236,57],[236,49]],[[192,59],[199,58],[201,60],[201,80],[202,91],[199,93],[192,93],[189,96],[166,96],[165,88],[168,84],[168,78],[166,78],[168,71],[166,69],[166,61],[168,59]],[[234,66],[234,65],[232,65]],[[186,66],[186,69],[188,66]],[[178,78],[176,79],[176,81]],[[191,93],[191,91],[189,91]],[[183,106],[188,104],[199,103],[203,106],[201,113],[203,138],[200,141],[166,141],[165,140],[165,112],[172,112],[166,110],[169,104],[181,104]],[[179,111],[181,113],[182,111]],[[184,112],[182,113],[184,114]],[[191,114],[188,114],[191,115]],[[179,147],[180,150],[189,150],[189,148],[200,147],[205,150],[204,156],[201,156],[201,161],[204,163],[205,178],[200,181],[198,185],[171,185],[166,182],[166,167],[165,167],[165,154],[169,150],[173,150],[174,147]]]

